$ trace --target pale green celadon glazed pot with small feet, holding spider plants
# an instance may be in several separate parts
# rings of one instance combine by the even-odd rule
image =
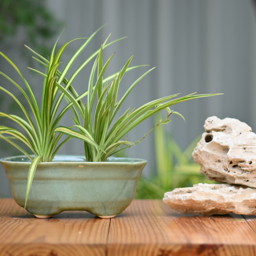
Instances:
[[[24,207],[31,161],[26,156],[13,156],[0,162],[10,180],[14,200]],[[84,156],[56,155],[52,162],[37,165],[26,210],[38,218],[67,210],[112,218],[130,205],[146,164],[135,158],[86,162]]]

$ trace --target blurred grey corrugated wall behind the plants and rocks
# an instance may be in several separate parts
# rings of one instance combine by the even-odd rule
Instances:
[[[105,60],[116,52],[108,73],[120,70],[133,54],[132,65],[156,66],[140,81],[123,109],[139,107],[147,101],[178,92],[182,95],[196,91],[225,94],[173,107],[183,114],[186,123],[174,116],[166,129],[182,148],[203,131],[204,120],[213,115],[240,119],[247,122],[253,131],[256,130],[256,20],[250,0],[49,0],[47,4],[66,23],[60,44],[76,37],[89,37],[98,27],[108,23],[89,44],[75,67],[100,47],[111,32],[112,40],[123,36],[128,38],[105,51]],[[19,33],[14,42],[19,42],[21,37],[22,33]],[[73,42],[62,62],[67,62],[81,43]],[[5,49],[5,53],[17,64],[36,91],[36,97],[40,98],[42,79],[31,75],[27,62],[22,61],[16,48]],[[79,92],[87,88],[90,68],[88,66],[81,72],[73,84]],[[120,96],[147,69],[143,67],[127,73],[120,87]],[[20,81],[2,58],[0,70]],[[0,83],[3,87],[12,87],[2,77]],[[0,95],[3,97],[2,92]],[[69,123],[67,115],[63,124]],[[146,120],[129,134],[129,139],[140,139],[153,125],[153,119]],[[9,147],[1,142],[0,157],[10,153]],[[59,153],[83,154],[83,144],[79,140],[70,140]],[[144,175],[153,174],[152,134],[128,150],[128,154],[147,159]],[[11,197],[9,181],[2,166],[0,193]]]

